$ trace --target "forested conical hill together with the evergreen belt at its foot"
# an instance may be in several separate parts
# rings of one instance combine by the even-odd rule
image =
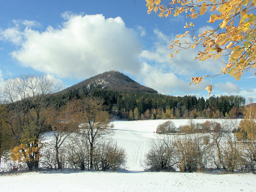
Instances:
[[[49,96],[56,107],[71,99],[96,96],[120,119],[237,118],[245,99],[241,96],[166,96],[138,84],[118,71],[109,71]]]

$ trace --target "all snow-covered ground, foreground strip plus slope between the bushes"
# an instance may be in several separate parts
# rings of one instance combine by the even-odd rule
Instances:
[[[127,172],[64,170],[0,175],[0,191],[256,191],[253,174],[143,172],[143,159],[150,141],[156,138],[154,131],[165,121],[113,122],[113,139],[127,154]],[[172,121],[177,127],[188,122]]]

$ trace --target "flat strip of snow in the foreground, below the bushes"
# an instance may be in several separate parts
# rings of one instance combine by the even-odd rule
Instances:
[[[3,192],[255,191],[256,175],[168,172],[31,172],[0,176]]]

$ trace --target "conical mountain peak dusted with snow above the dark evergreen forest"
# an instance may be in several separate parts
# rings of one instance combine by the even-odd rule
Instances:
[[[115,91],[126,92],[147,92],[157,93],[156,90],[140,85],[123,73],[116,70],[111,70],[99,75],[93,76],[89,79],[81,81],[61,92],[67,92],[69,90],[92,90],[92,89],[105,89]],[[80,92],[80,91],[79,91]]]

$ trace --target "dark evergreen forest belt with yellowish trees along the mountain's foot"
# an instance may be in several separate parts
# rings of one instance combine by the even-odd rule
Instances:
[[[120,119],[172,119],[172,118],[237,118],[242,116],[245,99],[241,96],[167,96],[156,93],[119,92],[92,89],[69,90],[54,95],[55,105],[63,105],[72,98],[96,96],[104,99],[108,111]]]

